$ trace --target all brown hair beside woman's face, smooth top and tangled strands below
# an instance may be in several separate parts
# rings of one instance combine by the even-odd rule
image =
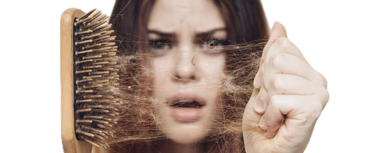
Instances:
[[[198,143],[207,146],[207,152],[245,152],[243,113],[268,38],[268,23],[260,0],[213,1],[222,13],[229,41],[229,45],[222,46],[226,54],[220,93],[223,112],[217,113],[209,126],[210,134]],[[144,64],[154,56],[145,52],[149,43],[145,39],[147,22],[154,3],[155,0],[116,0],[109,21],[117,36],[121,85],[116,135],[109,143],[111,149],[120,152],[156,152],[150,144],[168,139],[153,107],[158,99],[150,96],[153,74]],[[248,130],[256,130],[252,121],[249,125]]]

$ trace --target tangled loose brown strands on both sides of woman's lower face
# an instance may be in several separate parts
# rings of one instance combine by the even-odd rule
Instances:
[[[244,143],[243,113],[252,95],[253,79],[258,70],[265,42],[265,40],[258,40],[222,46],[222,51],[226,54],[226,70],[222,74],[220,85],[221,104],[220,108],[217,108],[219,113],[215,114],[213,121],[208,125],[210,132],[202,142],[220,143],[219,149],[223,149],[223,152],[236,150],[236,152],[244,152],[244,149],[241,149],[243,147],[236,150],[229,148],[234,144],[244,146],[242,145]],[[139,44],[139,42],[136,43]],[[118,124],[114,126],[116,136],[110,139],[109,143],[112,146],[124,146],[168,139],[155,108],[155,103],[159,103],[160,99],[151,94],[154,76],[144,62],[154,58],[155,55],[137,52],[133,48],[124,49],[118,51],[120,64],[118,73],[121,85],[119,87],[121,101],[118,106],[120,115]]]

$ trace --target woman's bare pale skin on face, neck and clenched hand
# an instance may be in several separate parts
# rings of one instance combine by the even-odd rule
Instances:
[[[161,99],[156,109],[170,138],[154,147],[160,152],[203,152],[200,145],[194,144],[208,134],[208,124],[219,105],[225,54],[208,52],[209,48],[202,45],[206,40],[199,35],[206,33],[206,37],[226,39],[226,31],[221,30],[226,28],[225,23],[212,0],[157,0],[150,15],[148,39],[165,39],[169,41],[164,43],[176,44],[151,50],[158,54],[149,61],[155,76],[153,94]],[[245,126],[247,121],[254,120],[252,117],[262,116],[256,126],[263,133],[244,130],[246,152],[304,152],[328,101],[327,83],[287,39],[286,30],[278,22],[263,50],[254,87],[243,123]],[[177,94],[194,95],[206,101],[199,119],[182,122],[171,115],[166,101]],[[284,116],[284,122],[278,124]],[[94,148],[94,152],[98,150]]]

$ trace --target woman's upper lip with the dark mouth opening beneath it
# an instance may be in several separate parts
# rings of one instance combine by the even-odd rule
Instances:
[[[188,94],[177,94],[174,95],[169,101],[167,101],[167,105],[170,107],[203,107],[206,105],[206,102],[195,95]]]

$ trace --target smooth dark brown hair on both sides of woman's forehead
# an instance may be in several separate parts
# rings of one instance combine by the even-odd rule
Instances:
[[[260,0],[213,0],[226,21],[228,40],[234,43],[264,39],[268,23]],[[132,42],[144,37],[149,12],[155,0],[116,0],[110,23],[118,36],[124,38],[121,47],[132,48]]]

